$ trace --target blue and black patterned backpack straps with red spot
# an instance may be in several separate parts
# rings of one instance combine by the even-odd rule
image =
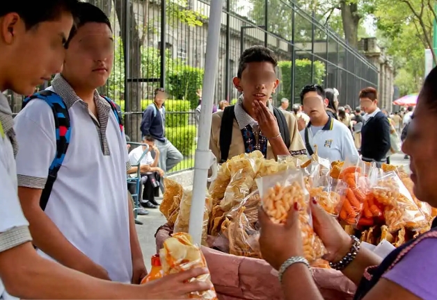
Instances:
[[[108,101],[109,105],[111,105],[111,109],[114,115],[116,115],[118,125],[120,126],[120,132],[123,133],[122,118],[120,117],[121,111],[118,111],[116,103],[114,103],[111,99],[108,97],[103,98]],[[26,105],[33,99],[44,100],[50,106],[53,112],[56,128],[56,154],[49,167],[49,175],[47,176],[47,182],[45,183],[44,190],[42,190],[40,199],[40,207],[42,210],[45,210],[47,202],[49,201],[51,189],[56,181],[58,171],[61,169],[61,165],[65,158],[65,153],[67,153],[68,145],[70,144],[70,115],[63,99],[55,92],[43,90],[31,95],[30,97],[27,97],[23,101],[22,109],[26,107]]]

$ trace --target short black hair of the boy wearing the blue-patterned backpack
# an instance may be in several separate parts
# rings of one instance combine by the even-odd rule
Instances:
[[[70,33],[70,38],[68,38],[66,47],[76,35],[77,30],[88,23],[102,23],[108,25],[109,29],[112,31],[111,21],[109,17],[97,6],[88,2],[79,2],[75,6],[74,14],[74,28]]]

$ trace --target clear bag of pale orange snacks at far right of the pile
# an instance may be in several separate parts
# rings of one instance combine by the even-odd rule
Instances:
[[[396,172],[382,174],[372,186],[376,201],[384,206],[383,215],[390,231],[402,227],[418,230],[428,222]]]

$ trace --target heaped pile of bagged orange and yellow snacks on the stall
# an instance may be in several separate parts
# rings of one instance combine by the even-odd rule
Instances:
[[[160,210],[174,232],[188,232],[192,193],[168,178]],[[326,249],[312,229],[310,198],[363,242],[387,240],[395,247],[428,231],[437,210],[419,201],[402,167],[333,162],[316,153],[307,161],[287,157],[266,160],[260,151],[223,163],[205,199],[202,244],[236,256],[261,258],[258,208],[282,223],[294,203],[301,207],[305,258],[314,267]]]

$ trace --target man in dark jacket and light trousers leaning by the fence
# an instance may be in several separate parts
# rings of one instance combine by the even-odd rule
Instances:
[[[165,138],[166,110],[163,106],[167,99],[164,88],[157,88],[154,91],[154,101],[143,113],[141,121],[141,133],[144,136],[151,135],[156,140],[156,145],[161,153],[159,156],[159,167],[164,172],[170,171],[180,163],[184,156],[173,144]]]

